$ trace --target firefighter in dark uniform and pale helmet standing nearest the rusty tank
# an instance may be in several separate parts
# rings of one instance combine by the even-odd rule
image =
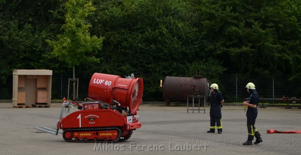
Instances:
[[[213,83],[210,86],[210,130],[207,133],[215,133],[215,127],[217,127],[217,132],[222,133],[222,111],[221,107],[224,103],[224,98],[221,92],[219,92],[219,86]]]

